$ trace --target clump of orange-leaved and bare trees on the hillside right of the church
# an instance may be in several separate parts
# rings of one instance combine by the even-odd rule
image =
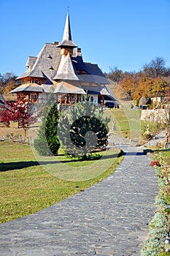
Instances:
[[[121,72],[115,68],[111,69],[107,77],[114,81],[119,79],[119,85],[131,99],[140,99],[142,96],[164,97],[170,86],[170,68],[165,67],[165,64],[162,57],[156,57],[145,64],[140,72]]]

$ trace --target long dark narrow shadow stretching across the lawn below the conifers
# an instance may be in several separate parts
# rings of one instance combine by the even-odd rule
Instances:
[[[116,158],[116,157],[121,157],[123,155],[123,152],[120,151],[119,154],[112,154],[112,155],[109,155],[109,156],[103,156],[102,159],[109,159],[109,158]],[[22,162],[2,162],[0,163],[0,172],[5,172],[5,171],[8,171],[8,170],[21,170],[23,168],[26,168],[26,167],[32,167],[32,166],[38,166],[38,165],[56,165],[58,163],[69,163],[69,162],[83,162],[83,161],[95,161],[95,160],[98,160],[98,159],[101,159],[101,156],[99,155],[96,155],[96,156],[93,156],[93,157],[89,157],[88,159],[83,159],[83,158],[80,158],[80,159],[66,159],[66,160],[53,160],[53,161],[22,161]]]

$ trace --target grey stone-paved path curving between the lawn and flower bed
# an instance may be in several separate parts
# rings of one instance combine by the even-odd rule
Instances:
[[[158,193],[150,159],[124,147],[115,173],[31,216],[0,225],[0,255],[139,255]]]

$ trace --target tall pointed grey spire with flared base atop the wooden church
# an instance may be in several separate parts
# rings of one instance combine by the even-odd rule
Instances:
[[[71,26],[69,21],[69,12],[67,12],[66,15],[66,23],[63,31],[63,40],[62,42],[57,46],[58,48],[77,48],[77,45],[72,41],[72,34],[71,34]]]

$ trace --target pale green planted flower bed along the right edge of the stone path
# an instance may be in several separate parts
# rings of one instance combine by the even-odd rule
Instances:
[[[155,173],[158,176],[159,193],[155,198],[155,205],[158,209],[150,222],[150,233],[147,241],[144,242],[141,255],[142,256],[166,256],[169,252],[164,252],[164,239],[170,230],[170,184],[169,175],[170,168],[160,164],[163,162],[161,153],[151,155],[152,158],[160,159],[160,161],[150,162],[150,166],[155,167]]]

